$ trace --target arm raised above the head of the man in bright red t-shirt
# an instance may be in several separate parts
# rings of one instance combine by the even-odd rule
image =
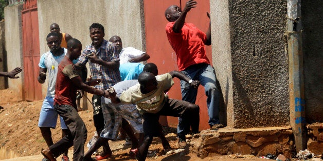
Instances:
[[[180,15],[180,17],[177,18],[177,20],[175,21],[174,25],[173,25],[173,31],[175,33],[178,33],[182,30],[184,23],[185,23],[185,18],[186,18],[186,14],[188,11],[191,10],[191,8],[195,8],[196,4],[198,4],[196,1],[193,0],[189,0],[186,5],[185,8],[182,12],[182,14]]]

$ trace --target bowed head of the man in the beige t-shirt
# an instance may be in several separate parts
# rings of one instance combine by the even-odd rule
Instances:
[[[157,89],[157,80],[153,73],[142,72],[138,76],[138,82],[143,90],[146,92],[153,91]]]

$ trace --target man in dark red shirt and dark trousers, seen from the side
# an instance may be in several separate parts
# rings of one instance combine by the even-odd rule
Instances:
[[[82,118],[77,113],[77,90],[81,89],[88,93],[104,97],[109,96],[109,92],[107,91],[90,87],[100,83],[100,79],[93,79],[91,82],[83,83],[81,77],[77,74],[77,70],[72,61],[81,55],[81,42],[78,41],[78,39],[71,38],[67,42],[67,50],[68,51],[58,68],[54,109],[63,117],[69,131],[67,135],[57,143],[53,144],[48,149],[41,151],[42,154],[50,160],[56,160],[56,157],[64,153],[73,145],[73,160],[83,160],[87,131]]]

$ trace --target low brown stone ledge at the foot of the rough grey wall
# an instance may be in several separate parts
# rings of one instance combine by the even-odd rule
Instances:
[[[255,156],[283,154],[291,158],[292,138],[291,127],[204,130],[193,136],[190,150],[201,158],[237,153]]]

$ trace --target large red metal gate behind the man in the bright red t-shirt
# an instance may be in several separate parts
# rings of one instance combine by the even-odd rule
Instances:
[[[159,74],[172,70],[178,70],[176,64],[176,55],[170,46],[165,27],[168,23],[165,18],[165,10],[170,5],[185,7],[187,1],[164,0],[164,1],[144,1],[145,25],[146,25],[146,51],[150,55],[148,62],[155,63],[158,67]],[[206,32],[209,26],[209,19],[206,12],[209,12],[209,1],[198,1],[196,8],[189,11],[186,16],[186,22],[193,23],[201,31]],[[206,46],[207,57],[212,61],[211,46]],[[169,91],[169,97],[182,99],[180,81],[175,78],[175,85]],[[206,96],[204,88],[199,88],[195,104],[200,106],[200,130],[209,129],[208,114],[206,107]],[[176,127],[178,124],[177,117],[160,118],[160,123],[170,127]]]

